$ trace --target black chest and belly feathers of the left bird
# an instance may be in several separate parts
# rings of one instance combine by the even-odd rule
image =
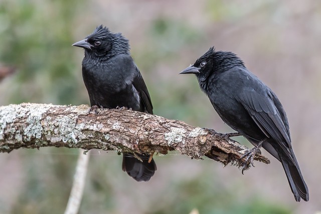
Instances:
[[[132,62],[117,58],[104,62],[84,60],[82,75],[91,104],[105,108],[139,108],[137,91],[132,85],[133,66]]]

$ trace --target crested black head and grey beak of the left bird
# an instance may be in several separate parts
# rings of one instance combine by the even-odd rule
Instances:
[[[102,25],[98,26],[92,34],[84,40],[76,42],[73,46],[85,49],[86,53],[95,55],[127,54],[129,51],[128,40],[121,34],[114,34]]]

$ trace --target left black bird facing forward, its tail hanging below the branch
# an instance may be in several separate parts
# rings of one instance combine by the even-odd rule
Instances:
[[[85,49],[82,77],[91,106],[126,107],[152,114],[148,90],[130,56],[125,37],[101,25],[73,46]],[[122,169],[137,181],[148,181],[156,170],[154,160],[148,162],[148,159],[146,155],[124,153]]]

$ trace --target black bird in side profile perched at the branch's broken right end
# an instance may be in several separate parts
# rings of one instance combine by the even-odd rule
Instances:
[[[239,57],[212,47],[180,74],[195,74],[222,120],[255,145],[246,161],[250,157],[253,165],[262,146],[282,163],[295,200],[308,201],[285,111],[272,90],[247,70]]]

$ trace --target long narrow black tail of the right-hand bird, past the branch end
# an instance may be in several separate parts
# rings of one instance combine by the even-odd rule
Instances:
[[[287,158],[280,157],[287,180],[290,184],[295,200],[300,201],[302,198],[303,200],[308,201],[309,192],[306,183],[304,182],[299,165],[294,155],[292,155],[292,158],[294,159],[295,164],[293,164],[292,161],[286,160]]]

